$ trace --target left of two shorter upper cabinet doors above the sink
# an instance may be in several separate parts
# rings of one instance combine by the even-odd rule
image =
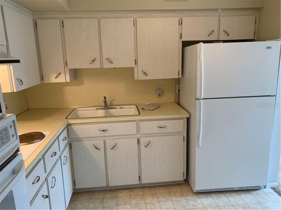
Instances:
[[[64,19],[68,68],[100,68],[97,19]]]

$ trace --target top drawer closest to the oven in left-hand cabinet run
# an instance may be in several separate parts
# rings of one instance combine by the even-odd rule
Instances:
[[[40,158],[37,164],[31,169],[26,176],[26,185],[28,190],[29,202],[32,200],[37,190],[45,180],[47,174],[44,171],[43,159]]]

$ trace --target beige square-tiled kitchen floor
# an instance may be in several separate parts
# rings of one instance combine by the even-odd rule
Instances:
[[[73,192],[67,209],[281,209],[272,189],[194,193],[189,183]]]

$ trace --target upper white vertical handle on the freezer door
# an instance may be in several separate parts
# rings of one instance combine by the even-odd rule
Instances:
[[[202,99],[203,98],[203,84],[204,84],[204,66],[203,66],[203,43],[198,44],[198,63],[197,63],[197,88],[199,90],[198,95],[196,98]]]

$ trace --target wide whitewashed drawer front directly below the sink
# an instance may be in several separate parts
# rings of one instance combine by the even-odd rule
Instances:
[[[70,125],[68,131],[70,138],[129,135],[136,134],[137,126],[136,122]]]

